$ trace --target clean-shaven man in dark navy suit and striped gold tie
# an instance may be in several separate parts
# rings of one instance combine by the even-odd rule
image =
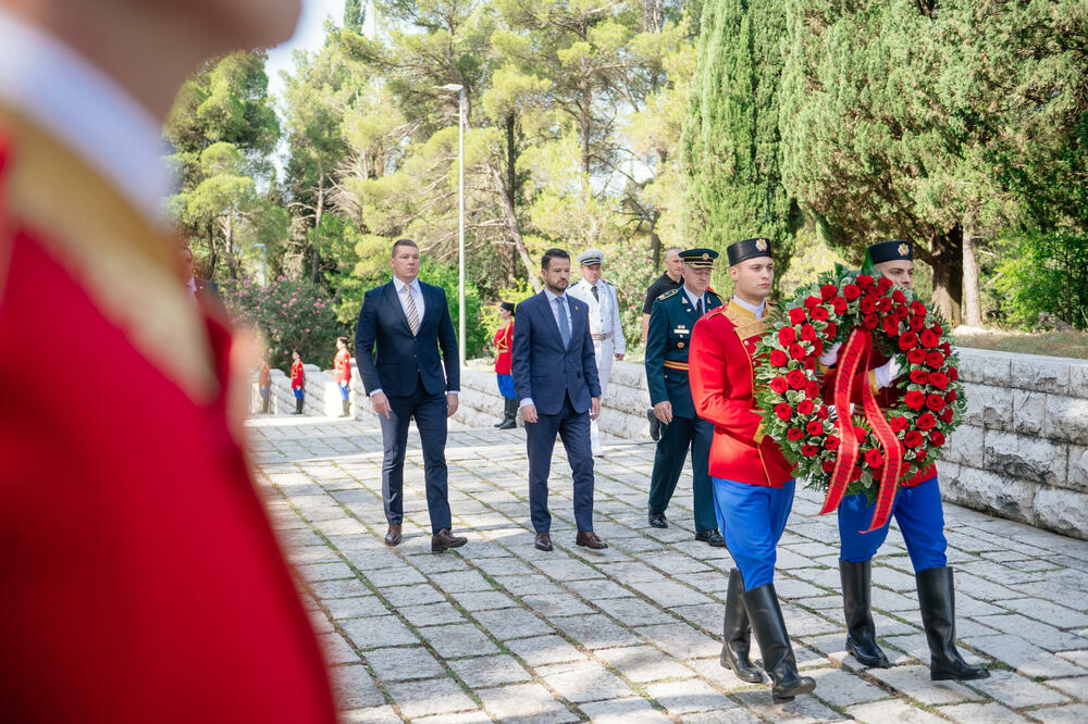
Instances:
[[[408,422],[415,417],[423,447],[431,550],[438,552],[466,542],[450,533],[446,496],[446,419],[457,412],[460,383],[457,336],[446,292],[417,278],[416,242],[397,239],[391,265],[393,280],[367,292],[355,329],[359,376],[382,425],[382,501],[390,524],[385,542],[400,542],[405,447]]]

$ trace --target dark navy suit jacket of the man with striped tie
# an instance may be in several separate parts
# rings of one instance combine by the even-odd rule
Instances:
[[[457,335],[446,292],[422,282],[419,286],[423,319],[416,335],[408,326],[393,282],[371,289],[362,299],[355,328],[355,360],[367,395],[375,389],[388,396],[411,395],[417,378],[429,395],[459,389]]]

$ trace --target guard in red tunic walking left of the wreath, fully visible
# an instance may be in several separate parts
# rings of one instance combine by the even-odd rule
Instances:
[[[789,701],[816,683],[798,673],[774,583],[778,540],[793,504],[793,472],[778,445],[763,435],[753,392],[758,364],[753,354],[775,266],[767,239],[738,241],[726,253],[733,298],[695,324],[689,357],[695,411],[715,426],[710,479],[718,525],[739,569],[729,574],[721,664],[743,681],[761,681],[749,661],[754,631],[771,695]]]

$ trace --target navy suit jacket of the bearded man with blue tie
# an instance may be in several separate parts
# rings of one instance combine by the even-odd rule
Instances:
[[[531,397],[544,415],[559,414],[565,396],[570,396],[570,404],[579,413],[590,409],[591,397],[601,397],[590,309],[569,295],[567,303],[571,326],[566,349],[543,291],[518,304],[514,316],[514,389],[519,400]]]

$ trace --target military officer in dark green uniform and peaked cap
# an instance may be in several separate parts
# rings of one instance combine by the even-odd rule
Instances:
[[[726,545],[718,532],[708,464],[714,425],[695,414],[688,384],[688,348],[695,322],[721,305],[707,287],[718,252],[689,249],[680,252],[683,285],[654,301],[646,333],[646,382],[654,415],[663,426],[650,478],[650,525],[668,527],[665,510],[676,490],[683,461],[691,450],[695,539],[715,547]]]

